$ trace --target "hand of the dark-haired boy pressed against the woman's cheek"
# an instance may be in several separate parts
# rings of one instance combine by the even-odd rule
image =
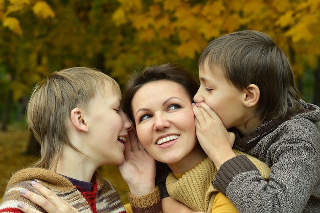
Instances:
[[[236,156],[232,150],[235,134],[225,129],[220,117],[204,102],[193,104],[193,112],[199,143],[219,169],[225,161]]]

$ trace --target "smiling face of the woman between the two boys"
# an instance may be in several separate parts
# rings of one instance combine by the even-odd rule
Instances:
[[[168,80],[149,82],[132,99],[136,132],[154,159],[183,161],[197,145],[192,102],[185,89]]]

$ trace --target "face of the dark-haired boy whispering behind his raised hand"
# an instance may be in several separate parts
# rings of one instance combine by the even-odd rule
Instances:
[[[245,93],[229,82],[218,66],[210,69],[205,63],[199,69],[199,79],[200,87],[194,101],[209,105],[219,115],[226,129],[241,128],[247,118],[242,104]]]

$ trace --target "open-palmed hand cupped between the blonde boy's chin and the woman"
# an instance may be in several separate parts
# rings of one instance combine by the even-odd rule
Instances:
[[[155,160],[140,144],[135,130],[129,131],[129,140],[125,143],[125,160],[118,165],[119,171],[129,186],[130,193],[142,196],[155,188]]]

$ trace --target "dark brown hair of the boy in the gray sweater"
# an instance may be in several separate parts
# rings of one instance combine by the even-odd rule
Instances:
[[[261,121],[288,119],[299,113],[300,95],[290,63],[268,35],[253,30],[238,31],[211,41],[201,53],[199,69],[205,64],[220,68],[238,89],[255,84],[260,89]]]

